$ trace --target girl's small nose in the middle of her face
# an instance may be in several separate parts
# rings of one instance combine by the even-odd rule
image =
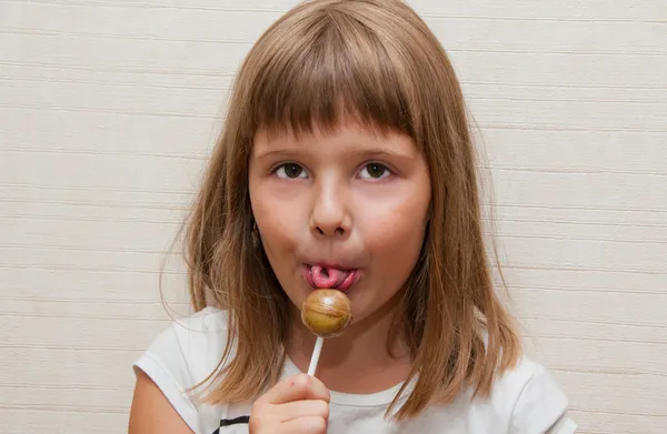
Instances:
[[[317,238],[347,239],[351,231],[351,215],[348,210],[345,189],[322,185],[315,191],[310,231]]]

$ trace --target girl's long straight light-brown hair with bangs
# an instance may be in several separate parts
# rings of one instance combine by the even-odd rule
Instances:
[[[511,317],[494,292],[472,139],[447,54],[399,0],[313,0],[275,22],[243,61],[186,228],[192,304],[229,315],[211,402],[259,395],[286,360],[289,301],[252,238],[253,137],[259,129],[334,130],[350,118],[412,138],[431,179],[429,228],[400,312],[415,386],[396,420],[449,403],[468,386],[488,395],[519,357]]]

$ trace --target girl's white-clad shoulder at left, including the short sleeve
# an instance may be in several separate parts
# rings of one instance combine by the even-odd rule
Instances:
[[[227,343],[228,316],[213,307],[173,320],[159,332],[133,367],[146,373],[193,432],[202,411],[195,390],[219,367]]]

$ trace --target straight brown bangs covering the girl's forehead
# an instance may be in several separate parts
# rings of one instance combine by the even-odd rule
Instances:
[[[350,16],[309,18],[288,34],[269,31],[250,87],[249,132],[330,132],[351,121],[415,138],[398,55]]]

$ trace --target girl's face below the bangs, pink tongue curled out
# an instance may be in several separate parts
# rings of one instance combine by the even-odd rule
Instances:
[[[391,307],[430,203],[428,166],[409,137],[354,124],[299,139],[260,132],[249,188],[267,258],[298,309],[316,287],[345,291],[354,322]]]

